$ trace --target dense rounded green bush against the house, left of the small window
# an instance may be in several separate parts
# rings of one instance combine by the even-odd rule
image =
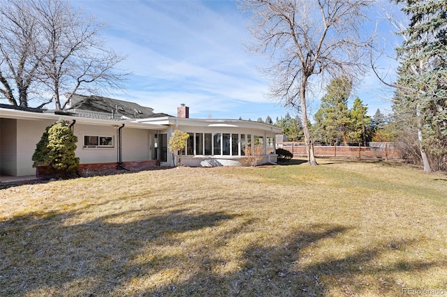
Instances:
[[[78,137],[68,127],[68,123],[59,120],[48,126],[41,140],[36,144],[32,160],[33,167],[47,166],[53,169],[54,175],[73,174],[79,165],[75,156]]]

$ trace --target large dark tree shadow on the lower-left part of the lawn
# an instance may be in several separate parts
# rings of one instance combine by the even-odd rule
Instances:
[[[0,222],[0,296],[103,296],[138,274],[145,247],[179,245],[173,236],[213,227],[235,215],[171,211],[114,223],[117,213],[66,224],[77,213],[29,213]]]

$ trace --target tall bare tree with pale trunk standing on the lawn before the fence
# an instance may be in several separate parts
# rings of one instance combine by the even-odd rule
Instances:
[[[370,40],[360,26],[371,0],[240,0],[253,13],[249,50],[270,56],[270,96],[301,111],[307,160],[316,165],[307,126],[306,93],[312,77],[358,81],[367,68]]]

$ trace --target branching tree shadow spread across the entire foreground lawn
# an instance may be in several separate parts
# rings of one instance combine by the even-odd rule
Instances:
[[[414,241],[316,261],[312,250],[321,241],[352,229],[330,224],[296,229],[274,244],[259,238],[219,254],[240,236],[256,232],[257,222],[235,214],[180,210],[131,222],[114,222],[122,215],[132,218],[128,212],[68,224],[76,215],[33,213],[0,223],[1,296],[328,296],[333,289],[351,296],[368,290],[386,296],[402,293],[393,273],[447,264],[374,264],[381,254],[405,250]],[[229,222],[235,227],[228,227]],[[232,261],[238,266],[228,266]]]

